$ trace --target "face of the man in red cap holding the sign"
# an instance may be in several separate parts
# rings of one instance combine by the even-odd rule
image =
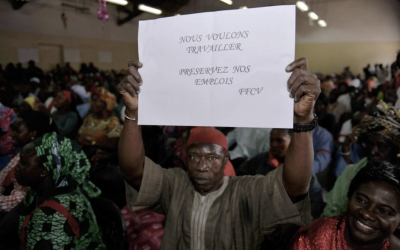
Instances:
[[[216,144],[195,143],[188,148],[188,174],[202,195],[218,190],[223,182],[227,151]]]

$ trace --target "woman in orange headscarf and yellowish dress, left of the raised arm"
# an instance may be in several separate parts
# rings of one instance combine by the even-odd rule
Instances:
[[[108,90],[98,88],[92,96],[92,113],[85,117],[78,132],[78,142],[95,167],[117,160],[116,148],[122,126],[113,113],[116,100]]]

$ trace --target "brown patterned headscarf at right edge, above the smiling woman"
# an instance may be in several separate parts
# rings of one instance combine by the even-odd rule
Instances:
[[[371,133],[385,135],[400,149],[400,111],[383,101],[379,101],[376,108],[377,111],[373,115],[365,116],[361,123],[353,128],[354,133],[359,137]]]

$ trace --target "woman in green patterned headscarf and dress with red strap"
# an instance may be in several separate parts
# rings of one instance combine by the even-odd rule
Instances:
[[[29,190],[2,221],[0,236],[18,224],[20,249],[105,249],[88,200],[100,194],[89,169],[79,145],[66,137],[49,133],[27,144],[15,176]]]

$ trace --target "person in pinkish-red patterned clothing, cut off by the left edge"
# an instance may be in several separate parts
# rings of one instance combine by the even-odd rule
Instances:
[[[11,124],[16,115],[13,109],[0,105],[0,170],[2,170],[15,155],[15,148],[11,140]]]

